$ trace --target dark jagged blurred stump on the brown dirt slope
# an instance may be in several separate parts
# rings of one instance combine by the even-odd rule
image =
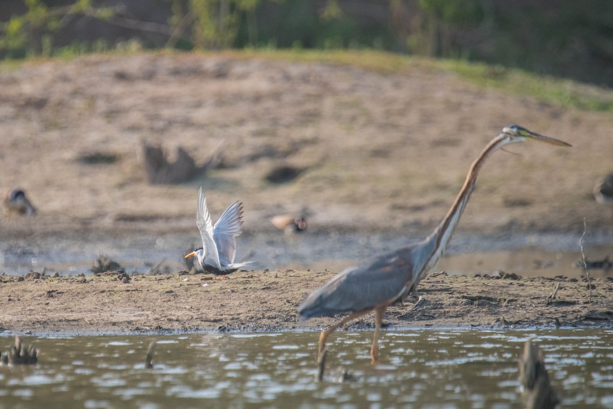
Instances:
[[[161,146],[148,145],[142,142],[143,158],[145,161],[145,175],[150,185],[173,185],[189,182],[204,175],[207,170],[219,166],[222,159],[222,144],[219,144],[210,158],[201,166],[181,147],[177,148],[176,159],[169,161],[169,155]]]

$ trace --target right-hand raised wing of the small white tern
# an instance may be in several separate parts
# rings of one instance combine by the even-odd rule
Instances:
[[[236,201],[226,209],[213,227],[213,240],[217,244],[219,262],[222,266],[234,262],[235,237],[242,233],[241,224],[243,224],[243,204]]]

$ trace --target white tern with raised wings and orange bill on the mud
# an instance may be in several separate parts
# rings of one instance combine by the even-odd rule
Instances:
[[[189,253],[185,258],[196,256],[196,269],[214,275],[223,275],[235,272],[251,262],[235,263],[236,237],[242,233],[243,204],[238,201],[232,203],[221,215],[215,226],[211,223],[208,213],[207,198],[202,188],[198,191],[198,212],[196,224],[202,237],[202,247]]]

